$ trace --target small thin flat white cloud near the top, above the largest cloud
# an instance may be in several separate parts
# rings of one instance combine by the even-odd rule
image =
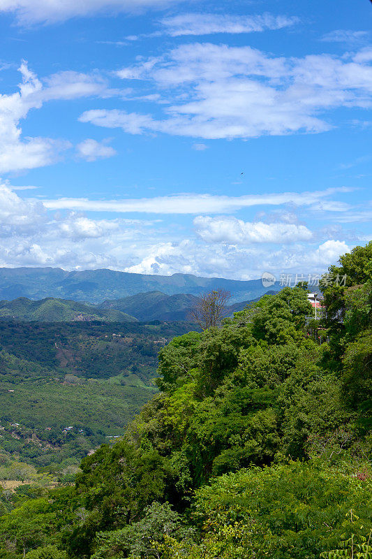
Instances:
[[[214,13],[184,13],[161,20],[164,32],[172,37],[209,35],[215,33],[252,33],[266,29],[282,29],[297,23],[297,17],[285,15],[225,15]]]

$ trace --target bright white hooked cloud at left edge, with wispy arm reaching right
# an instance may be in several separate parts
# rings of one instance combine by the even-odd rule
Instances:
[[[66,140],[22,137],[20,122],[30,110],[40,109],[45,101],[54,99],[113,94],[105,80],[96,74],[61,72],[42,81],[29,70],[26,62],[22,62],[20,73],[19,91],[0,95],[0,173],[50,165],[71,147]]]

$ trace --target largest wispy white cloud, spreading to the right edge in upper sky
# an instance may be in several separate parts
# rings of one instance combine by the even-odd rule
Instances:
[[[163,118],[98,109],[84,112],[80,121],[132,134],[204,139],[318,133],[333,127],[321,115],[372,106],[370,61],[366,50],[286,59],[251,47],[181,45],[117,72],[125,80],[142,80],[149,94],[165,94],[157,101]]]

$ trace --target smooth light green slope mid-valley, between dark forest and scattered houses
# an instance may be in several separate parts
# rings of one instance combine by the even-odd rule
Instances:
[[[50,374],[51,372],[49,372]],[[11,392],[9,392],[11,390]],[[124,433],[128,420],[155,388],[54,378],[0,384],[0,419],[29,428],[82,426],[105,435]],[[0,442],[1,447],[1,442]]]

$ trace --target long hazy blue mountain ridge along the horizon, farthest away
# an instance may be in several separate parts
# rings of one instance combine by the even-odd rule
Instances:
[[[0,268],[0,299],[6,300],[52,297],[103,303],[107,299],[121,299],[149,291],[198,296],[218,288],[230,291],[233,303],[260,297],[268,289],[262,285],[261,279],[240,281],[191,274],[145,275],[107,269],[68,272],[61,268]],[[279,282],[271,289],[278,291]]]

